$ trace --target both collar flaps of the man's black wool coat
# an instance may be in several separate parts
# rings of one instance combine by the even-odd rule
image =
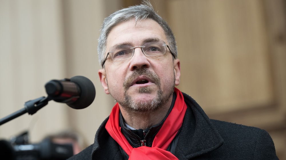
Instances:
[[[219,148],[223,145],[223,139],[198,103],[187,94],[183,93],[183,95],[188,109],[180,131],[175,156],[178,159],[190,159]],[[96,132],[91,159],[96,157],[95,153],[99,152],[108,153],[109,157],[113,156],[111,159],[120,157],[118,144],[105,129],[107,120],[108,118]],[[109,147],[104,147],[106,144]]]

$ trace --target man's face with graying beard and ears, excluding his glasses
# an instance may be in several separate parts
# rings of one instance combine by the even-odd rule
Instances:
[[[122,44],[142,46],[149,41],[167,38],[162,27],[154,20],[135,20],[116,25],[107,37],[107,52]],[[107,94],[111,94],[124,108],[138,111],[155,110],[167,101],[179,84],[180,63],[173,61],[167,49],[164,55],[145,56],[140,47],[135,48],[130,59],[113,61],[108,56],[105,69],[99,70],[100,80]]]

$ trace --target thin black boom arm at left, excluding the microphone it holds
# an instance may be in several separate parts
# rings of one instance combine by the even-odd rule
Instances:
[[[50,101],[50,100],[52,100],[52,99],[51,99],[51,97],[48,96],[48,97],[39,97],[37,99],[27,101],[27,102],[25,102],[24,108],[0,119],[0,125],[6,123],[8,121],[11,121],[12,119],[19,117],[20,115],[23,115],[27,112],[29,113],[29,115],[33,115],[39,109],[41,109],[42,107],[47,105],[48,101]]]

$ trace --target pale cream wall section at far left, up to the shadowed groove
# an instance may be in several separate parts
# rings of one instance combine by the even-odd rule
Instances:
[[[66,76],[60,1],[0,1],[0,116],[46,95],[44,84]],[[38,141],[66,128],[67,107],[50,102],[33,116],[22,115],[0,126],[0,137],[29,130]]]

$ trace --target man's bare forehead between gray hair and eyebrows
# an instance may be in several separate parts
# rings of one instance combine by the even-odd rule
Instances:
[[[138,46],[148,39],[158,39],[167,42],[163,28],[152,19],[145,19],[135,23],[134,19],[119,23],[113,27],[107,36],[106,47],[122,43]]]

